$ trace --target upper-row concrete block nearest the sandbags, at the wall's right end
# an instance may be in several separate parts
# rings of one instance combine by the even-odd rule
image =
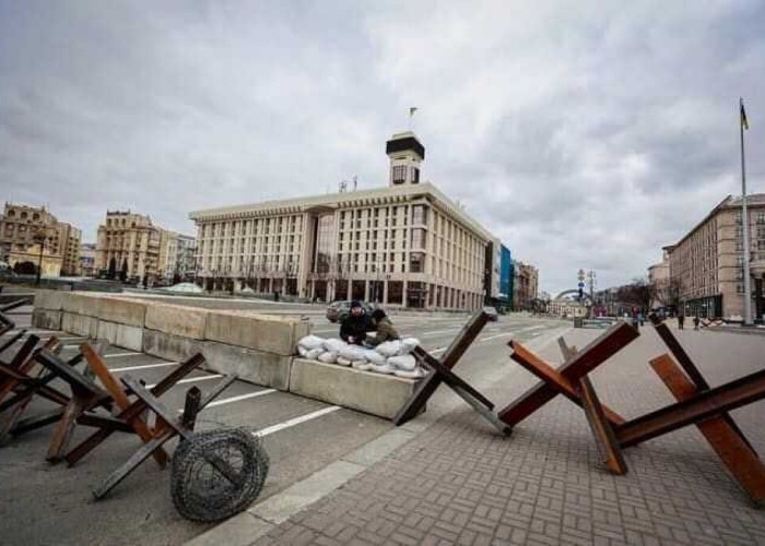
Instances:
[[[295,353],[299,320],[236,311],[210,311],[204,337],[289,356]],[[303,331],[303,328],[301,328]]]

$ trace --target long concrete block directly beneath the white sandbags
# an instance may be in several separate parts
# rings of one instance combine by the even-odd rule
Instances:
[[[392,419],[417,382],[396,376],[295,358],[290,392]]]

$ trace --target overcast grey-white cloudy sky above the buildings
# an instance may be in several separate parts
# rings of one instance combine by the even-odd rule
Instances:
[[[765,191],[764,29],[762,0],[0,0],[0,199],[84,241],[107,209],[193,234],[192,210],[384,186],[416,106],[425,179],[542,289],[607,287],[740,193],[739,96]]]

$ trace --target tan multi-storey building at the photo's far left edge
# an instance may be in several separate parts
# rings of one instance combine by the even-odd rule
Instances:
[[[59,222],[44,206],[5,203],[0,219],[0,261],[11,264],[22,257],[37,256],[32,260],[37,264],[42,245],[43,256],[48,257],[45,276],[75,276],[80,274],[81,237],[80,229]]]

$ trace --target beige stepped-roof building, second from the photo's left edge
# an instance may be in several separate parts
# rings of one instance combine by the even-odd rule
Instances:
[[[126,280],[154,282],[160,276],[160,248],[163,229],[149,216],[130,211],[107,211],[98,226],[95,268],[98,274]]]

